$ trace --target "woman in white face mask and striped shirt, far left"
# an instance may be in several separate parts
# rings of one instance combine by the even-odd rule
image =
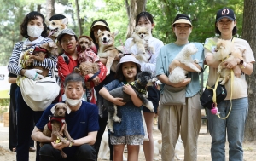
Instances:
[[[9,60],[8,70],[17,76],[25,76],[33,80],[38,80],[44,78],[40,74],[38,69],[22,69],[20,67],[20,55],[26,51],[30,51],[31,54],[33,50],[39,47],[43,43],[52,41],[47,37],[46,25],[44,23],[44,15],[38,12],[32,11],[27,14],[24,18],[22,24],[20,25],[20,34],[25,37],[25,41],[21,41],[15,44],[13,53]],[[55,56],[49,55],[45,58],[43,62],[34,60],[33,66],[43,66],[44,68],[54,69],[56,66],[57,58]],[[51,72],[49,72],[51,76]],[[17,108],[17,147],[16,147],[16,160],[17,161],[28,161],[29,159],[29,141],[31,138],[32,128],[29,125],[31,122],[37,123],[38,119],[41,117],[43,112],[34,112],[32,109],[26,105],[23,100],[20,87],[15,91],[16,108]],[[38,150],[40,149],[37,142],[37,160]]]

